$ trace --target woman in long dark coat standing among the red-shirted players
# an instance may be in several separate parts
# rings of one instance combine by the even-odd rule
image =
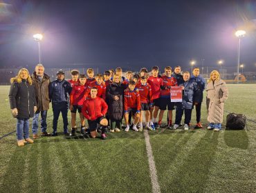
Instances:
[[[120,76],[113,76],[113,83],[107,87],[107,101],[109,105],[110,132],[120,132],[122,125],[123,94],[127,85],[120,83]]]

